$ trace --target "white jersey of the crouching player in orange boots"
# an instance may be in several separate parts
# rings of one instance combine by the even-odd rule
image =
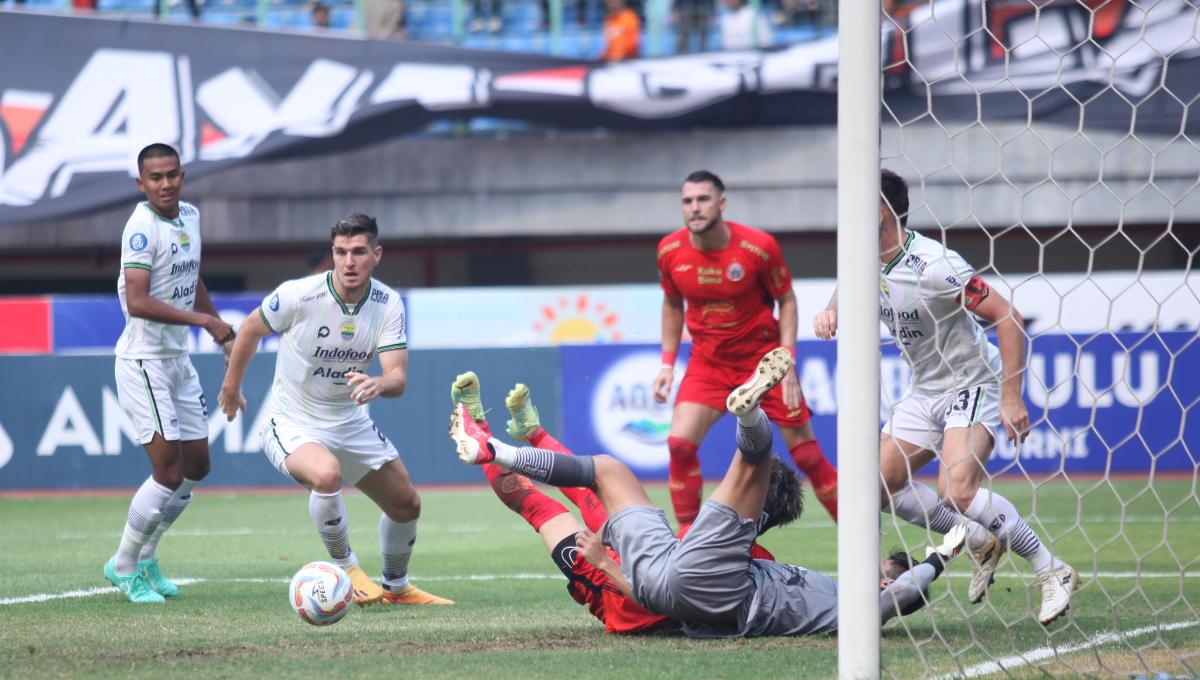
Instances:
[[[331,427],[366,415],[346,378],[365,372],[377,354],[407,349],[404,303],[371,279],[353,307],[337,296],[334,273],[284,282],[259,313],[282,336],[271,384],[271,413],[293,422]]]

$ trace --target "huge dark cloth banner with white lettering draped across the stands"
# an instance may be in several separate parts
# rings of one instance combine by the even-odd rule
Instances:
[[[1112,0],[1103,22],[1093,12],[1079,2],[936,0],[916,7],[881,36],[888,115],[1032,116],[1138,133],[1200,127],[1181,103],[1200,91],[1194,8],[1165,0],[1146,12]],[[133,198],[128,176],[149,142],[176,146],[199,177],[238,163],[341,152],[444,118],[654,130],[832,124],[836,114],[836,37],[584,64],[5,12],[0,44],[0,223]]]

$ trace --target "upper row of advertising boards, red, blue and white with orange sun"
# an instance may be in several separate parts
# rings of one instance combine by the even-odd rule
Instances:
[[[1183,271],[986,278],[1015,302],[1031,336],[1195,330],[1200,319],[1200,299]],[[800,339],[815,337],[809,319],[824,308],[835,284],[832,278],[792,282]],[[212,302],[238,326],[264,295],[214,293]],[[662,290],[654,284],[413,289],[403,299],[408,342],[420,349],[647,344],[661,333]],[[110,354],[125,325],[115,295],[0,299],[0,318],[6,320],[0,354]],[[881,333],[887,335],[882,326]],[[217,351],[202,330],[191,329],[191,351]],[[268,337],[259,349],[274,350],[277,342]]]

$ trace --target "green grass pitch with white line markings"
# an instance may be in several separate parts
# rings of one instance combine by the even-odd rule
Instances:
[[[1006,556],[983,604],[962,559],[935,602],[883,631],[884,676],[1169,675],[1200,672],[1200,503],[1192,480],[996,482],[1075,565],[1073,614],[1044,630],[1024,560]],[[652,489],[656,501],[666,492]],[[613,637],[565,592],[541,542],[486,487],[426,489],[414,582],[456,607],[358,609],[325,628],[287,603],[287,579],[324,559],[301,491],[200,487],[163,540],[163,571],[197,579],[137,607],[101,576],[128,498],[0,498],[0,678],[830,678],[833,637]],[[379,571],[378,511],[348,494],[352,543]],[[569,505],[569,504],[568,504]],[[768,534],[779,559],[834,572],[835,528],[815,501]],[[924,532],[882,516],[883,548]],[[1159,626],[1158,630],[1154,627]],[[986,666],[988,662],[998,666]]]

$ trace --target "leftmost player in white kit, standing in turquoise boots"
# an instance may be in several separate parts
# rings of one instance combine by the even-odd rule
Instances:
[[[162,603],[179,588],[158,570],[158,540],[209,474],[208,404],[187,356],[187,326],[203,327],[227,351],[234,332],[200,278],[200,213],[179,200],[179,154],[166,144],[143,149],[137,183],[146,200],[125,224],[116,279],[125,313],[116,397],[152,471],[133,494],[103,573],[131,602]]]

